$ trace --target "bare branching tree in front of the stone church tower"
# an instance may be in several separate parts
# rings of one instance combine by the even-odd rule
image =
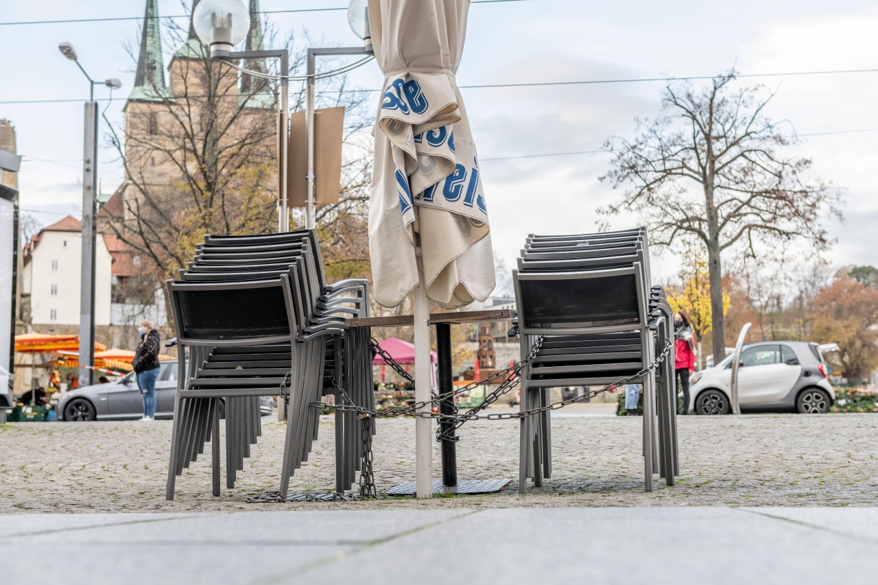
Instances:
[[[187,42],[186,29],[179,25],[170,23],[165,32],[172,46]],[[266,38],[274,44],[273,34]],[[292,39],[287,45],[291,71],[304,69],[304,49],[297,49]],[[241,76],[227,63],[211,61],[208,49],[197,41],[189,40],[185,47],[184,56],[169,68],[169,90],[154,87],[151,99],[129,102],[124,140],[114,139],[126,171],[126,191],[125,218],[112,223],[112,229],[148,256],[159,278],[185,266],[205,233],[259,234],[277,225],[276,82]],[[255,68],[248,61],[245,66]],[[277,74],[271,62],[256,69]],[[321,81],[318,106],[345,105],[347,139],[356,143],[356,134],[367,125],[360,106],[368,94],[349,92],[346,83],[343,76]],[[304,83],[291,89],[291,109],[302,109]],[[335,229],[346,242],[367,229],[367,155],[344,160],[341,200],[320,208],[324,226],[341,222],[346,227]],[[327,252],[333,256],[332,248]],[[362,264],[345,275],[355,273],[363,273]]]

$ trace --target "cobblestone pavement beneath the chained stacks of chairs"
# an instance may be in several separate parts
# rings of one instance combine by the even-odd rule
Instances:
[[[567,411],[565,413],[567,414]],[[171,423],[14,423],[0,426],[0,513],[25,511],[189,511],[233,509],[443,508],[515,506],[876,506],[876,415],[680,417],[678,485],[643,491],[641,421],[635,417],[558,416],[552,424],[554,475],[517,493],[518,423],[471,422],[457,448],[460,479],[506,477],[505,493],[429,501],[247,504],[276,489],[284,424],[263,437],[238,486],[210,495],[209,459],[177,479],[164,499]],[[294,493],[334,487],[333,423],[323,417],[311,458],[292,479]],[[379,495],[414,479],[414,420],[378,421],[374,441]],[[208,456],[209,457],[209,456]],[[434,477],[440,477],[435,444]]]

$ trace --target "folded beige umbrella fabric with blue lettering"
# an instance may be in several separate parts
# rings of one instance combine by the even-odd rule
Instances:
[[[385,74],[369,209],[374,298],[395,307],[421,283],[429,300],[464,307],[493,291],[479,160],[455,74],[469,0],[369,0]]]

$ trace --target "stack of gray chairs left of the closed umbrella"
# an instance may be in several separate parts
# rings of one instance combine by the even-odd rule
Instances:
[[[212,442],[219,495],[219,412],[226,414],[227,487],[260,435],[258,397],[290,401],[281,489],[317,438],[324,394],[371,408],[369,336],[343,335],[344,316],[368,314],[364,280],[327,285],[313,230],[274,235],[206,235],[187,270],[169,281],[181,356],[168,473],[176,475]],[[189,359],[184,359],[188,348]],[[362,354],[362,355],[361,355]],[[363,358],[363,355],[365,358]],[[368,392],[366,389],[368,388]],[[354,416],[336,412],[336,490],[354,481],[359,459]],[[341,439],[341,440],[340,440]]]

